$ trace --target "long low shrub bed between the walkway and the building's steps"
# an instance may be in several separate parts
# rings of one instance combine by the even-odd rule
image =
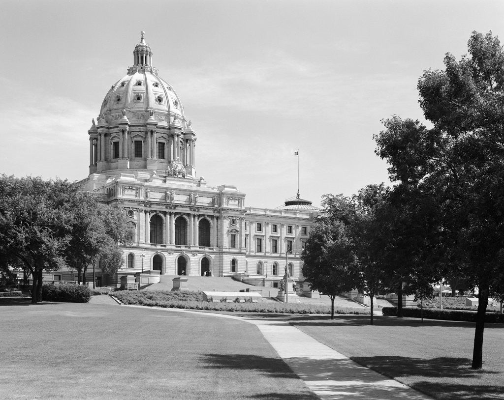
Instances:
[[[168,294],[169,293],[169,294]],[[288,314],[330,314],[331,306],[324,304],[277,303],[277,302],[209,302],[202,300],[201,292],[138,292],[118,291],[113,294],[124,304],[142,304],[148,307],[184,308],[231,312],[268,312]],[[195,299],[196,298],[196,299]],[[366,308],[339,307],[335,314],[369,314]]]

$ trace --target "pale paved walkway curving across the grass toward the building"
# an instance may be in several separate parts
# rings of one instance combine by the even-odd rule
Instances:
[[[128,305],[128,307],[143,307]],[[365,368],[294,328],[281,317],[247,317],[176,308],[211,317],[239,319],[256,325],[278,355],[322,400],[431,400],[396,380]]]

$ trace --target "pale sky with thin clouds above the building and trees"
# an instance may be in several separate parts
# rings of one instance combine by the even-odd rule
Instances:
[[[416,83],[502,36],[501,1],[12,1],[0,11],[0,173],[80,180],[91,119],[146,32],[198,135],[196,167],[246,206],[388,182],[372,134],[422,118]]]

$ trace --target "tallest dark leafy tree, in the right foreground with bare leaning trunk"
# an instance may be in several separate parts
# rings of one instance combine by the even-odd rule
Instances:
[[[375,140],[398,182],[394,192],[432,200],[429,234],[417,254],[432,261],[427,255],[435,255],[435,269],[445,277],[460,273],[478,287],[472,368],[479,369],[488,298],[500,290],[495,277],[503,268],[504,52],[491,33],[477,32],[468,51],[459,61],[448,53],[445,70],[427,70],[419,79],[420,106],[432,128],[393,117]],[[432,276],[432,266],[420,265],[419,274]]]

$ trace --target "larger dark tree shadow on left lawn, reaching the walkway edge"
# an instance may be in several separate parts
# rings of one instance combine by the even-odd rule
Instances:
[[[297,375],[280,358],[253,354],[205,354],[200,358],[204,368],[256,370],[274,378],[297,379]]]

